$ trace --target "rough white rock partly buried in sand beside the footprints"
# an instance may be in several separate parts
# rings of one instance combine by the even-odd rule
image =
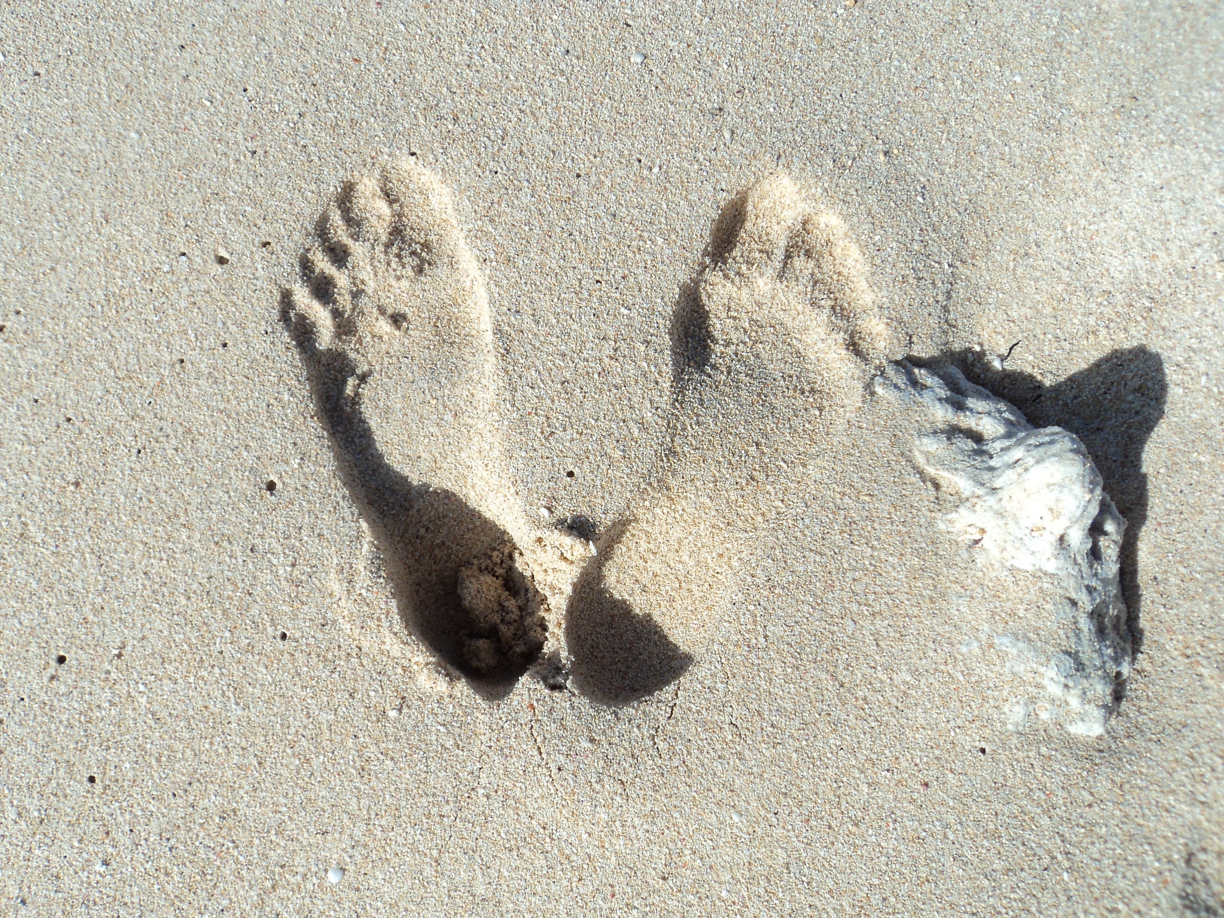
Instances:
[[[1006,565],[1056,578],[1065,600],[1051,619],[1023,635],[996,634],[994,647],[1007,670],[1044,689],[1066,730],[1100,736],[1115,688],[1131,671],[1118,579],[1126,523],[1088,450],[1061,427],[1033,427],[955,367],[901,361],[875,390],[923,412],[928,432],[914,444],[918,468],[961,498],[949,529]],[[1032,709],[1020,699],[1009,720],[1020,728]]]

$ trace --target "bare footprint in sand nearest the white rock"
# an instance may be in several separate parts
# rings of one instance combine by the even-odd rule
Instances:
[[[573,684],[606,704],[692,665],[776,502],[889,348],[858,247],[783,175],[723,208],[672,324],[667,447],[567,612]]]

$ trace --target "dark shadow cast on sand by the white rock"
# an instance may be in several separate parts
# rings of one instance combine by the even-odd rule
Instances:
[[[1120,579],[1130,612],[1127,624],[1138,652],[1143,643],[1138,541],[1148,512],[1143,448],[1164,416],[1168,383],[1160,355],[1144,346],[1110,351],[1054,386],[1021,371],[996,370],[977,351],[956,351],[916,362],[951,362],[971,382],[1011,401],[1032,424],[1062,427],[1083,441],[1100,471],[1105,492],[1126,520]]]

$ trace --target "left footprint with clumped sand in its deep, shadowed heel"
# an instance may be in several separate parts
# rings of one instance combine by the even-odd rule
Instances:
[[[346,182],[282,315],[405,623],[504,690],[558,630],[546,592],[563,601],[586,552],[532,528],[508,483],[488,300],[447,187],[412,160]]]

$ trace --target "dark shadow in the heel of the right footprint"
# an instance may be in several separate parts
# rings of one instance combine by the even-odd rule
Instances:
[[[618,524],[608,532],[574,585],[565,612],[570,683],[603,705],[645,698],[678,679],[693,663],[654,618],[638,614],[603,585],[603,567],[624,529]]]

